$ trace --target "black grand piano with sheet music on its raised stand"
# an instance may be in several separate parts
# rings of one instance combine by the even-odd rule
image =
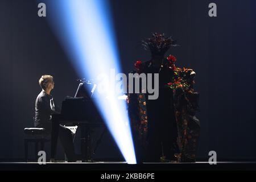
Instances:
[[[105,127],[103,119],[93,102],[96,84],[81,80],[75,97],[66,97],[61,105],[61,113],[52,115],[51,161],[55,160],[59,125],[73,123],[83,127],[84,150],[82,160],[92,161],[91,131],[94,127]],[[90,91],[88,91],[90,90]]]

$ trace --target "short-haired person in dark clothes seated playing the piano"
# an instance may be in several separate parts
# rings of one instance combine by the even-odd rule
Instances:
[[[51,117],[52,114],[58,114],[59,111],[54,105],[51,90],[54,88],[53,77],[43,75],[39,80],[42,92],[39,93],[35,102],[35,127],[42,127],[48,135],[51,134]],[[75,149],[73,146],[72,132],[66,127],[59,125],[59,137],[61,144],[67,155],[68,162],[76,161]]]

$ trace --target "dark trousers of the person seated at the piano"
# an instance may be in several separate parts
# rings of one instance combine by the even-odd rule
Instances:
[[[51,122],[39,123],[35,127],[43,127],[46,129],[46,134],[51,135]],[[65,154],[67,155],[68,160],[75,159],[75,148],[73,145],[72,132],[66,127],[59,126],[59,138],[61,145],[64,148]]]

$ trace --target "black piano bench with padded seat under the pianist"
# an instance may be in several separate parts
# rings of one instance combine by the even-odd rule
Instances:
[[[44,150],[44,143],[49,142],[49,135],[47,136],[44,128],[25,128],[24,129],[24,149],[25,149],[25,161],[28,162],[28,143],[35,143],[35,159],[38,158],[39,144],[40,151]]]

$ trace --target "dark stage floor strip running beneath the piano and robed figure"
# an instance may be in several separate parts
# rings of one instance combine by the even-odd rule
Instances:
[[[182,170],[256,170],[256,162],[208,162],[196,163],[143,163],[127,164],[126,162],[1,162],[0,170],[82,170],[82,171],[182,171]]]

